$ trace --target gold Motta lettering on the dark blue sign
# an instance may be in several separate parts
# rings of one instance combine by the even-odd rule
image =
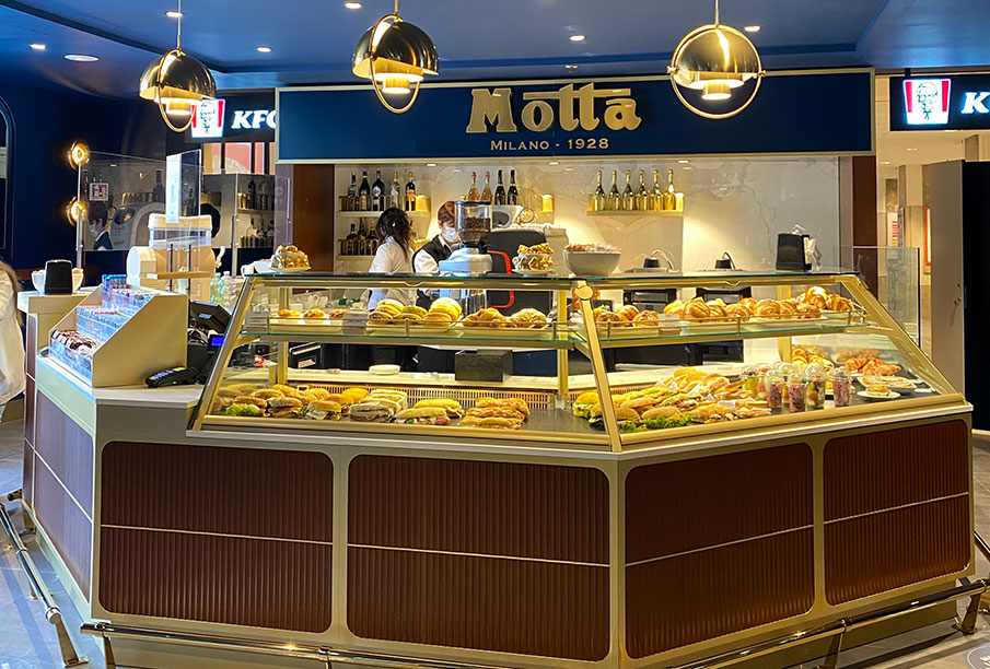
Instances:
[[[574,89],[574,84],[558,91],[529,91],[523,93],[520,120],[533,132],[549,130],[557,122],[563,130],[595,130],[602,122],[595,114],[595,99],[605,99],[605,126],[610,130],[636,130],[642,119],[636,113],[631,89],[595,90],[594,83]],[[552,102],[557,102],[555,110]],[[471,115],[468,132],[519,132],[512,110],[512,89],[471,90]]]

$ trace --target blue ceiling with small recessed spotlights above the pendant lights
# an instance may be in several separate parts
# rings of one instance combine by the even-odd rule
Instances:
[[[0,0],[4,74],[127,96],[144,67],[175,43],[174,0]],[[353,83],[358,36],[389,0],[186,0],[183,47],[213,69],[220,89]],[[403,0],[429,33],[441,80],[663,72],[689,30],[712,17],[703,0]],[[948,68],[990,64],[988,0],[722,0],[722,20],[759,24],[768,69]],[[587,38],[572,43],[568,35]],[[45,51],[28,48],[32,42]],[[256,47],[270,46],[270,54]],[[66,54],[98,62],[75,63]]]

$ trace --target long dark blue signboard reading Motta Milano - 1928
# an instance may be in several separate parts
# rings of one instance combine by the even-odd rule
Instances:
[[[280,89],[278,160],[872,153],[873,72],[771,74],[725,120],[692,114],[665,78],[423,86],[392,114],[371,86]]]

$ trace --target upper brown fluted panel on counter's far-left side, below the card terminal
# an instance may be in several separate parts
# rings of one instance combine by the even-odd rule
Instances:
[[[35,411],[35,451],[92,516],[93,437],[44,392],[37,394]]]

